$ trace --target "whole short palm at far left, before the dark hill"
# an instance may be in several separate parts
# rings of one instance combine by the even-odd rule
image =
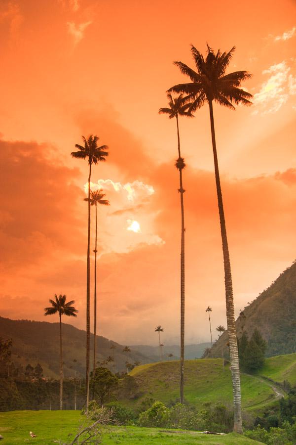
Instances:
[[[59,314],[60,317],[60,409],[63,409],[63,349],[62,349],[62,315],[76,317],[77,309],[74,308],[74,300],[66,303],[66,295],[55,294],[55,300],[49,300],[51,306],[44,308],[44,315]]]

